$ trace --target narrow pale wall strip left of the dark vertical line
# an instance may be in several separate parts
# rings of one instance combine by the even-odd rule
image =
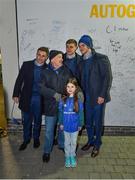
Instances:
[[[0,48],[6,114],[10,117],[12,91],[18,74],[15,0],[0,0]]]

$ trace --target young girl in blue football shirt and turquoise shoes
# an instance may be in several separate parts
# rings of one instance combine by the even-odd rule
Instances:
[[[78,99],[79,86],[75,78],[69,79],[66,95],[59,102],[59,125],[64,131],[65,166],[76,167],[78,132],[83,126],[83,103]]]

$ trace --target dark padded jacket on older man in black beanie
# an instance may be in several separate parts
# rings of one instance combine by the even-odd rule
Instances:
[[[42,71],[41,95],[44,98],[44,113],[46,116],[57,115],[58,103],[54,95],[55,93],[63,94],[68,79],[72,77],[71,72],[64,65],[58,71],[59,73],[56,74],[49,66]]]

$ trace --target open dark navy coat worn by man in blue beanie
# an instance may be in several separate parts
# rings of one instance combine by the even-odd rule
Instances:
[[[89,66],[89,95],[91,99],[91,106],[97,105],[98,97],[103,97],[105,102],[111,100],[110,88],[112,85],[112,71],[111,64],[107,56],[92,52],[93,60]],[[79,81],[83,89],[83,70],[85,60],[82,60],[78,65]]]

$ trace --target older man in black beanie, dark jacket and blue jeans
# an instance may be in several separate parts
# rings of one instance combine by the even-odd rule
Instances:
[[[63,65],[63,52],[52,50],[49,53],[50,64],[42,72],[41,95],[44,98],[45,144],[43,162],[49,162],[54,140],[54,128],[57,123],[58,101],[64,94],[65,85],[72,74]]]

